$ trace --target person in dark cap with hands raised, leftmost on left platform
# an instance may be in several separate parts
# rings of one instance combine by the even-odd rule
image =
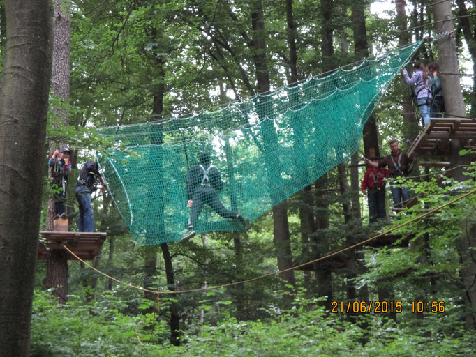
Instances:
[[[69,161],[70,151],[68,148],[61,148],[55,150],[48,165],[52,167],[51,170],[51,185],[55,190],[53,194],[54,202],[54,219],[68,218],[66,214],[66,189],[68,188],[68,175],[71,172],[71,163]]]

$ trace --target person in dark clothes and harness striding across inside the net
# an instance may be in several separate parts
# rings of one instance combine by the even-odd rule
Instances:
[[[191,207],[191,213],[188,219],[188,231],[181,238],[181,241],[187,241],[195,236],[194,227],[204,204],[209,204],[221,217],[235,218],[246,225],[245,218],[234,211],[226,209],[221,203],[216,192],[223,189],[223,181],[221,181],[220,173],[216,167],[211,166],[210,154],[201,152],[198,160],[200,165],[191,167],[187,173],[187,206]]]

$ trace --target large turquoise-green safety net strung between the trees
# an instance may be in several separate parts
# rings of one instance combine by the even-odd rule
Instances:
[[[186,177],[200,151],[211,153],[225,183],[218,192],[225,208],[251,221],[349,160],[376,103],[421,44],[216,111],[102,128],[117,148],[98,162],[135,240],[157,245],[186,232]],[[243,230],[208,204],[195,224],[198,234]]]

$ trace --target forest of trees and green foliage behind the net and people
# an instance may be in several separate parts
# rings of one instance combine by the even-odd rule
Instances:
[[[6,3],[0,1],[2,57]],[[452,39],[464,63],[459,73],[448,75],[466,78],[463,116],[474,118],[474,1],[385,1],[389,10],[371,12],[381,3],[54,1],[55,21],[70,19],[70,33],[63,34],[70,36],[70,64],[67,78],[54,77],[53,60],[53,78],[68,82],[68,91],[57,91],[61,80],[53,79],[40,230],[51,224],[47,155],[52,147],[73,149],[75,178],[95,150],[107,152],[112,145],[96,128],[212,109],[432,37],[439,32],[435,8],[441,6],[454,19]],[[429,63],[440,55],[437,43],[428,42],[417,58]],[[246,234],[211,232],[187,243],[142,247],[110,195],[99,193],[96,231],[107,232],[107,241],[92,263],[95,268],[145,289],[199,291],[157,295],[133,289],[80,261],[68,263],[67,287],[45,289],[46,262],[38,261],[30,356],[473,355],[475,198],[415,220],[422,208],[431,210],[474,190],[473,167],[456,168],[459,174],[440,185],[442,169],[417,167],[412,195],[419,195],[421,204],[378,227],[369,225],[366,199],[359,195],[362,155],[370,147],[380,149],[377,155],[388,154],[390,139],[406,149],[406,140],[421,130],[411,102],[408,86],[397,76],[364,128],[352,161],[274,207]],[[453,159],[454,167],[461,163],[457,155]],[[70,180],[69,192],[74,185]],[[75,231],[77,203],[71,194],[68,214]],[[307,270],[209,289],[325,257],[396,225],[404,227],[392,232],[401,234],[395,244],[359,246],[315,261]],[[21,255],[22,247],[17,250]],[[393,307],[341,312],[333,301],[343,306],[387,301]]]

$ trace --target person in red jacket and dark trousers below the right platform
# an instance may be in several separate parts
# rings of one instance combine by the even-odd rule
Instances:
[[[371,160],[378,161],[378,158],[371,158]],[[362,193],[367,195],[371,223],[385,218],[385,178],[388,176],[388,170],[385,167],[367,165],[361,188]]]

